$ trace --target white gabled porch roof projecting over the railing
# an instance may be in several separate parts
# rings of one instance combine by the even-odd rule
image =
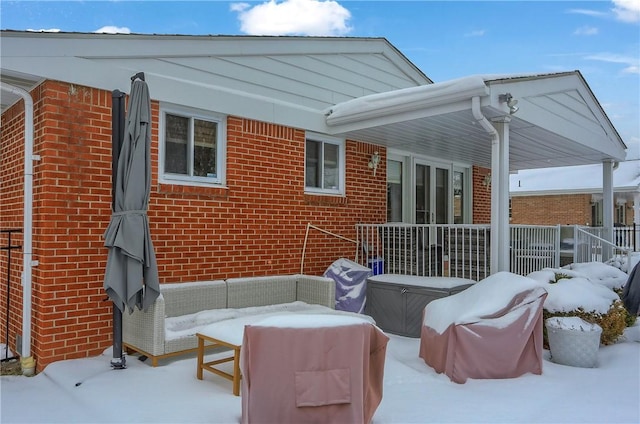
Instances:
[[[509,113],[500,96],[511,94]],[[626,146],[579,71],[476,75],[373,94],[327,109],[328,132],[418,155],[491,167],[491,138],[472,113],[509,117],[510,170],[622,161]]]

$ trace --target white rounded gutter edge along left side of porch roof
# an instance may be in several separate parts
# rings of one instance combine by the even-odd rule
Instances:
[[[371,94],[329,108],[327,125],[345,131],[349,124],[349,130],[354,130],[372,123],[381,125],[450,113],[470,109],[472,97],[488,94],[484,79],[477,76]]]

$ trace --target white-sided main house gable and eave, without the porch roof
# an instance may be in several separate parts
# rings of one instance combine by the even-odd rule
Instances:
[[[327,107],[432,81],[381,37],[193,36],[0,31],[0,82],[45,80],[325,132]],[[2,111],[19,97],[2,91]]]

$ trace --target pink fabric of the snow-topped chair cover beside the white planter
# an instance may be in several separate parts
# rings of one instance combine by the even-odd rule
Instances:
[[[533,300],[531,291],[539,292]],[[451,324],[442,334],[423,325],[420,357],[456,383],[465,383],[467,378],[542,374],[542,306],[546,297],[542,288],[520,293],[504,309],[474,323]],[[523,303],[523,299],[529,300]],[[511,314],[511,319],[502,322],[509,324],[498,324],[506,314]]]

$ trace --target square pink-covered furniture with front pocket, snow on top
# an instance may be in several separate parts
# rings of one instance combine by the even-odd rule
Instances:
[[[389,338],[357,317],[278,316],[248,325],[242,423],[369,423]]]

